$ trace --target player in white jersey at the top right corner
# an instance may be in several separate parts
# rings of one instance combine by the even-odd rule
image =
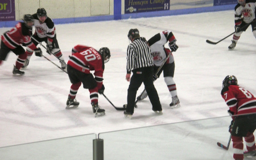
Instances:
[[[236,47],[237,41],[240,39],[240,36],[243,31],[246,31],[251,23],[251,28],[253,30],[253,35],[256,38],[256,20],[255,20],[255,11],[256,11],[256,1],[255,0],[237,0],[238,4],[234,8],[235,10],[235,31],[233,35],[232,44],[229,45],[229,49],[234,49]],[[244,27],[246,26],[247,27]],[[243,28],[242,28],[243,27]],[[241,29],[242,28],[242,29]]]

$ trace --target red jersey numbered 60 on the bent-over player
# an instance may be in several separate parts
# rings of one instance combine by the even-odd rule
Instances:
[[[68,65],[89,74],[94,70],[95,80],[98,82],[98,89],[101,89],[104,73],[104,61],[100,52],[92,47],[76,45],[72,49],[72,56]]]

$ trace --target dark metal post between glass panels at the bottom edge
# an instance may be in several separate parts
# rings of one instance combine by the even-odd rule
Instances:
[[[93,160],[104,160],[103,139],[93,140]]]

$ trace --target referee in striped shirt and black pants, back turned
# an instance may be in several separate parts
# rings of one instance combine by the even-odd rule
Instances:
[[[133,115],[136,94],[142,82],[152,104],[152,110],[156,113],[162,113],[158,92],[153,83],[154,61],[150,54],[150,47],[146,39],[139,36],[138,29],[131,29],[128,33],[128,38],[131,43],[127,48],[126,80],[130,82],[130,85],[127,95],[127,107],[124,112],[125,117],[131,118]],[[131,71],[133,71],[132,77]]]

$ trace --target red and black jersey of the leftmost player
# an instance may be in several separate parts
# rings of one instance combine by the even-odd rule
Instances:
[[[32,28],[25,26],[23,22],[16,24],[10,31],[5,32],[1,39],[5,45],[10,49],[17,48],[20,44],[24,44],[32,50],[36,49],[36,46],[31,42],[30,36]]]

